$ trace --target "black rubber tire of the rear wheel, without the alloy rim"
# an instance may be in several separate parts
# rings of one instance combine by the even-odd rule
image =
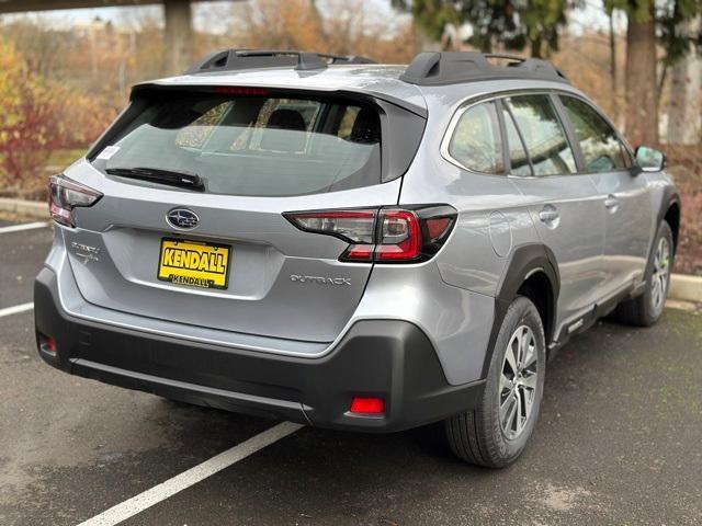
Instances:
[[[511,393],[517,392],[517,388],[500,388],[500,378],[503,375],[503,369],[510,369],[508,362],[506,362],[508,345],[512,342],[516,331],[518,329],[523,331],[524,325],[533,334],[537,376],[533,389],[531,412],[528,413],[521,433],[518,436],[509,437],[500,422],[500,402],[507,401],[508,398],[511,399]],[[517,460],[526,447],[539,420],[545,366],[546,346],[541,317],[531,300],[518,297],[507,310],[495,341],[485,391],[478,405],[473,411],[448,419],[444,423],[446,438],[453,453],[467,462],[488,468],[503,468]],[[508,393],[506,397],[503,397],[505,392]],[[518,397],[519,395],[517,395]]]

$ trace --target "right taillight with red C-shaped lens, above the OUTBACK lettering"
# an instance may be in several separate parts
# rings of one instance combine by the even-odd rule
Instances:
[[[284,214],[301,230],[349,243],[340,261],[416,263],[434,255],[449,238],[456,210],[448,205],[315,210]]]

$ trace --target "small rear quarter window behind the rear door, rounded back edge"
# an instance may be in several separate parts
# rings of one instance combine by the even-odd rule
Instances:
[[[474,172],[505,172],[500,125],[494,102],[485,102],[463,112],[453,130],[449,153]]]

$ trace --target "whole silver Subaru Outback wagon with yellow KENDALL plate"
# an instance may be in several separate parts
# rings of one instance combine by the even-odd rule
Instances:
[[[558,347],[659,319],[664,169],[546,61],[215,53],[136,85],[50,179],[38,352],[314,426],[444,421],[458,457],[502,467]]]

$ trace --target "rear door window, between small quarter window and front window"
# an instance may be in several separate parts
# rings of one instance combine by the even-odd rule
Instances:
[[[577,171],[573,149],[547,95],[510,96],[505,103],[522,134],[534,175]]]

